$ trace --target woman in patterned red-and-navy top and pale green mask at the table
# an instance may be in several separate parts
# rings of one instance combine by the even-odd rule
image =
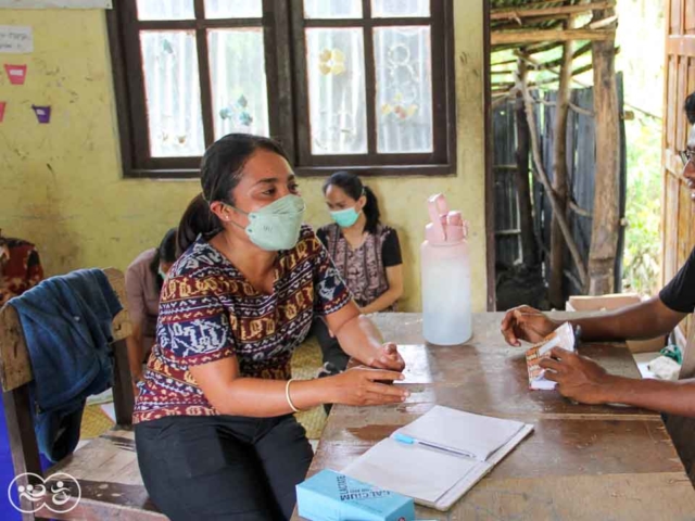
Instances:
[[[138,462],[167,517],[289,519],[312,449],[292,412],[383,405],[407,392],[403,359],[359,314],[312,229],[282,149],[229,135],[201,165],[160,302],[156,344],[134,412]],[[372,369],[291,380],[316,316]]]

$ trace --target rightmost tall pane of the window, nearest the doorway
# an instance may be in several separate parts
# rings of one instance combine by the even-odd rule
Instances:
[[[432,152],[429,27],[374,29],[377,152]]]

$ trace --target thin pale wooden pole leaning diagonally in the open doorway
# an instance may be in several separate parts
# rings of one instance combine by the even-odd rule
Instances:
[[[565,241],[567,242],[567,247],[572,257],[572,260],[574,262],[574,265],[577,266],[579,280],[585,288],[589,282],[589,278],[586,277],[586,267],[584,266],[582,257],[579,253],[579,249],[577,247],[577,243],[574,242],[574,238],[572,237],[572,232],[569,228],[569,225],[567,224],[567,218],[565,217],[565,214],[560,212],[557,198],[555,196],[555,192],[553,191],[551,181],[548,180],[547,175],[545,174],[545,168],[543,167],[538,128],[535,126],[535,117],[533,117],[533,99],[531,98],[531,93],[529,92],[526,84],[519,80],[517,88],[523,97],[526,117],[529,122],[529,136],[531,137],[531,155],[533,157],[533,164],[535,165],[535,169],[532,170],[533,176],[541,185],[543,185],[543,188],[545,189],[545,192],[547,193],[547,196],[551,201],[553,214],[558,216],[558,225],[563,230],[563,236],[565,237]]]

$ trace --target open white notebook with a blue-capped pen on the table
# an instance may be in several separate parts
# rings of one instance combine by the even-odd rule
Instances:
[[[341,472],[448,510],[532,430],[519,421],[438,405]]]

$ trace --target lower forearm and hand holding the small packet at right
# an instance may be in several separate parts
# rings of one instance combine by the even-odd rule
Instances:
[[[661,380],[608,374],[595,361],[559,347],[540,366],[545,378],[558,382],[564,396],[584,404],[626,404],[680,416],[695,417],[695,379]]]

